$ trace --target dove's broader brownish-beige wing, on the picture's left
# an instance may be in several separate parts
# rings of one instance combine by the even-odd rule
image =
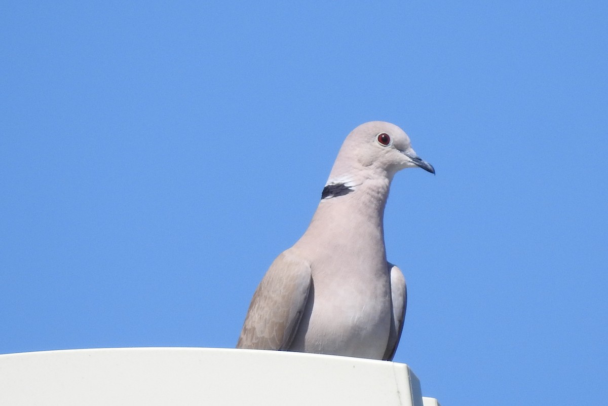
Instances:
[[[289,250],[277,256],[255,290],[237,348],[287,349],[308,300],[311,269]]]

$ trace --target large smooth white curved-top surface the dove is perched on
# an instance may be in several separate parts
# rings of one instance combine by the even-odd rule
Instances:
[[[311,404],[423,406],[423,400],[407,365],[351,357],[216,348],[0,355],[0,405]]]

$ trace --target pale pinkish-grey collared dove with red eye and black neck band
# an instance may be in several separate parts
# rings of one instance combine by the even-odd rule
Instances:
[[[368,122],[348,134],[308,229],[255,290],[237,348],[393,359],[407,288],[387,261],[384,208],[404,168],[435,174],[398,126]]]

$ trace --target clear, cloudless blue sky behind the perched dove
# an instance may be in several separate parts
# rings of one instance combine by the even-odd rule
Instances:
[[[605,2],[10,2],[0,353],[232,347],[355,126],[401,126],[395,360],[444,405],[608,396]]]

